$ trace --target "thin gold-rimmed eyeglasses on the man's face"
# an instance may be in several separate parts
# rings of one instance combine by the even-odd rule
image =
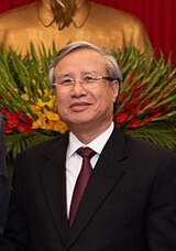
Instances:
[[[59,87],[73,87],[74,85],[76,85],[76,83],[79,83],[84,86],[91,86],[92,84],[98,83],[99,80],[108,80],[108,81],[112,81],[112,79],[108,76],[86,76],[84,78],[77,78],[74,79],[72,77],[65,77],[65,78],[61,78],[57,79],[56,83],[53,84],[53,86],[59,86]]]

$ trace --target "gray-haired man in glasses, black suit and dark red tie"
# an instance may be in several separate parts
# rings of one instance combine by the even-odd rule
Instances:
[[[14,250],[176,250],[176,156],[116,128],[121,81],[94,44],[56,55],[50,83],[69,132],[16,159],[4,233]]]

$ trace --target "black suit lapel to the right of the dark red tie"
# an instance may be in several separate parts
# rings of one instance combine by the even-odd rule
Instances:
[[[116,129],[106,144],[82,197],[79,211],[69,233],[68,247],[76,241],[84,228],[111,194],[128,166],[125,139]],[[68,248],[67,247],[67,248]]]

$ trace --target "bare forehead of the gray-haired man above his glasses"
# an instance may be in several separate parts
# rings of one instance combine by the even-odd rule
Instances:
[[[57,64],[56,70],[63,69],[105,70],[106,59],[102,54],[90,48],[76,50],[64,56]]]

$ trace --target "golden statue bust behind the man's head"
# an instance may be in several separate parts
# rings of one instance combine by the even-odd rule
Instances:
[[[25,54],[31,42],[53,42],[58,48],[70,41],[87,40],[106,48],[135,46],[145,51],[148,36],[130,13],[88,0],[38,0],[0,15],[0,47]]]

